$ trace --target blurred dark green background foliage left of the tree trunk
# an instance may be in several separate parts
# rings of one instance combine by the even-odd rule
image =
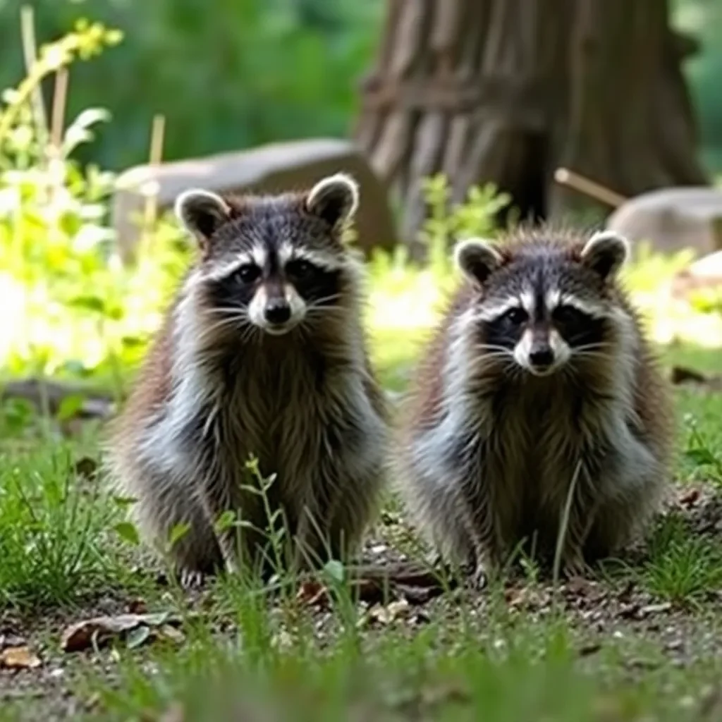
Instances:
[[[105,168],[148,157],[155,113],[168,160],[307,136],[344,136],[375,51],[383,0],[46,0],[38,35],[82,14],[123,30],[112,56],[74,69],[69,111],[100,103],[114,123],[93,149]],[[0,87],[22,76],[18,4],[0,2]],[[192,102],[188,102],[192,99]],[[84,157],[87,157],[84,155]]]

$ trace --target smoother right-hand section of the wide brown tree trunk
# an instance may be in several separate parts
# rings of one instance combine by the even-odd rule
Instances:
[[[560,165],[624,196],[704,184],[666,0],[578,0]],[[588,200],[554,188],[553,216]]]

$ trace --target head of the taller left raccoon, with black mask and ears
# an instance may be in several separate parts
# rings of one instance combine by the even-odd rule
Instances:
[[[251,326],[273,336],[319,321],[344,292],[347,257],[339,237],[357,205],[357,184],[340,173],[303,195],[240,204],[209,191],[182,193],[175,212],[201,246],[204,305],[226,328]]]

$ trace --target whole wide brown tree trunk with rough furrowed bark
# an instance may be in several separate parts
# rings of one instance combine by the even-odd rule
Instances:
[[[492,181],[523,217],[593,204],[554,184],[558,165],[625,195],[705,183],[679,67],[690,42],[668,17],[667,0],[388,0],[355,136],[414,255],[432,173],[453,201]]]

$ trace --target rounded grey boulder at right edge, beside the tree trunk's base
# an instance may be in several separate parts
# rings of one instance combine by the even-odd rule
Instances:
[[[663,253],[712,253],[722,249],[722,191],[690,186],[642,193],[619,206],[606,227]]]

